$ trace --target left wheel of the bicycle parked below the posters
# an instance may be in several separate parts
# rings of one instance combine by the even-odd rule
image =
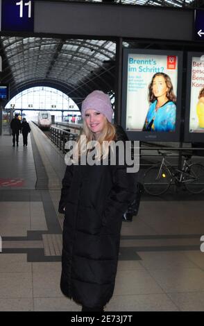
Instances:
[[[152,166],[144,173],[143,185],[145,191],[153,196],[164,194],[171,185],[171,173],[164,166]]]

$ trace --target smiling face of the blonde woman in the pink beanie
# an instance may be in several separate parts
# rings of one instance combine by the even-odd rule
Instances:
[[[85,112],[85,121],[90,130],[99,135],[105,127],[106,117],[101,112],[89,109]]]

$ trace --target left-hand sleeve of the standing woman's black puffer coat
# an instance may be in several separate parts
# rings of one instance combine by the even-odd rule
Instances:
[[[65,214],[65,205],[67,203],[67,199],[69,196],[69,187],[71,185],[72,177],[73,177],[73,165],[70,166],[67,165],[65,176],[62,179],[62,190],[61,190],[60,203],[58,207],[58,212],[61,214]]]

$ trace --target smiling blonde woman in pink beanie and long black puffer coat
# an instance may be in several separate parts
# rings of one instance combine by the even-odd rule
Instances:
[[[67,166],[62,180],[59,212],[65,213],[65,221],[60,286],[62,293],[82,304],[82,311],[103,311],[114,291],[121,221],[135,199],[136,180],[125,165],[99,164],[104,141],[123,139],[111,123],[109,96],[92,92],[83,101],[81,113],[86,144],[97,140],[98,158],[94,165]],[[84,144],[79,149],[86,156],[91,151],[85,153]],[[107,148],[101,153],[110,155]]]

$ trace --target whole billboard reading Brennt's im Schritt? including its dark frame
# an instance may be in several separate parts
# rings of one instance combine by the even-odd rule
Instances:
[[[182,53],[124,49],[122,126],[130,139],[178,141]]]

